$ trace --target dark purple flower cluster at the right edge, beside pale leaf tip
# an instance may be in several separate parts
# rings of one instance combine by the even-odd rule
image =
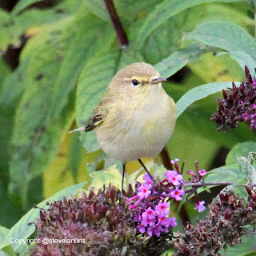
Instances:
[[[236,86],[233,82],[232,89],[222,90],[223,98],[218,99],[218,113],[211,119],[216,122],[219,130],[228,127],[237,128],[238,122],[250,124],[250,129],[256,129],[256,79],[250,75],[246,66],[246,82]]]

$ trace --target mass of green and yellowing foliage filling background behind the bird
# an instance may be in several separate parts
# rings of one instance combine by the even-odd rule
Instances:
[[[11,228],[34,204],[77,182],[119,184],[114,165],[120,163],[99,149],[94,132],[80,140],[67,132],[84,124],[110,79],[133,62],[150,62],[170,78],[165,90],[179,117],[167,149],[186,169],[198,160],[210,170],[222,147],[255,141],[249,126],[218,133],[210,121],[216,92],[244,80],[245,65],[255,75],[253,2],[115,0],[126,49],[103,0],[55,1],[45,9],[37,2],[19,0],[10,13],[0,10],[0,225]],[[21,54],[12,69],[6,56],[14,49]],[[248,145],[245,154],[255,146]],[[126,184],[139,174],[136,164],[128,169]]]

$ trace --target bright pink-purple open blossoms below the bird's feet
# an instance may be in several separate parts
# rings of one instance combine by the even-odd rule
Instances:
[[[178,159],[174,162],[177,164]],[[177,169],[177,168],[176,168]],[[182,175],[176,170],[167,170],[161,182],[152,182],[145,174],[143,183],[137,183],[137,192],[127,198],[129,209],[134,211],[134,221],[138,222],[138,231],[149,236],[160,236],[177,226],[176,218],[170,218],[170,200],[181,201],[185,191],[182,190]],[[131,204],[133,202],[133,204]]]

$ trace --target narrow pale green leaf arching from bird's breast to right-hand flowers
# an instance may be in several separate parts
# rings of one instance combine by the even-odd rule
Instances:
[[[218,91],[230,88],[231,86],[231,82],[212,82],[189,90],[176,103],[177,117],[179,117],[192,103],[199,99],[206,98],[210,94],[215,94]]]

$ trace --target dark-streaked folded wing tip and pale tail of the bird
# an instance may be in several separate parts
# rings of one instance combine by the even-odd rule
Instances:
[[[94,130],[96,126],[98,126],[100,123],[103,122],[103,119],[106,117],[106,110],[103,110],[102,108],[97,107],[93,113],[90,115],[90,118],[86,122],[86,126],[80,127],[75,130],[70,130],[69,133],[74,133],[76,131],[90,131]]]

